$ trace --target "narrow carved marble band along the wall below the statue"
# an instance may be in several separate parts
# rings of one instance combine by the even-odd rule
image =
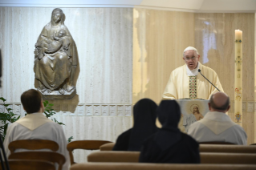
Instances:
[[[22,108],[22,103],[10,104],[8,108],[17,115],[25,115],[26,111]],[[57,104],[52,107],[55,115],[64,116],[132,116],[132,105],[129,104]],[[6,111],[0,103],[0,112]]]

